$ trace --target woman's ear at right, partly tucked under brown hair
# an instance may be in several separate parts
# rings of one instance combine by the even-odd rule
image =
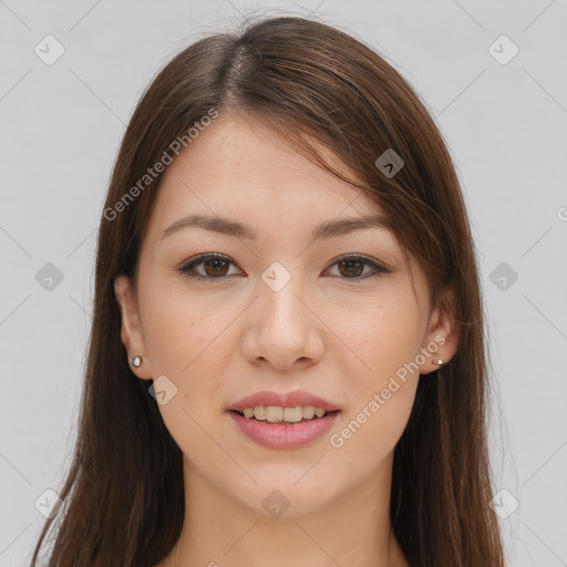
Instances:
[[[429,374],[441,367],[433,361],[441,359],[446,364],[458,348],[458,323],[454,319],[455,292],[451,288],[439,295],[436,306],[432,309],[427,332],[421,352],[425,362],[420,365],[420,374]]]

